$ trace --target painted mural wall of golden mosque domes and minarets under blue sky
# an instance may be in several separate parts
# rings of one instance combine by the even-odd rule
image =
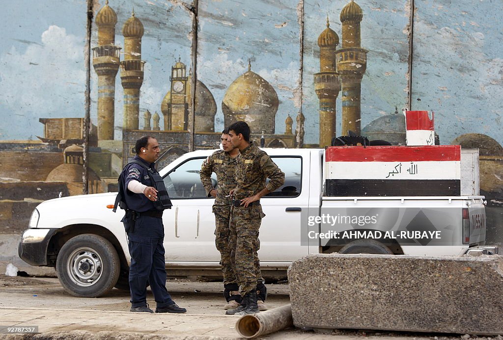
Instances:
[[[37,202],[81,194],[84,169],[87,192],[116,190],[144,134],[167,151],[161,166],[191,149],[216,148],[221,130],[237,120],[270,147],[324,147],[348,130],[403,145],[401,109],[408,107],[435,112],[441,144],[480,149],[488,223],[502,225],[503,27],[496,16],[503,3],[410,6],[405,0],[3,4],[0,223],[21,231]],[[503,240],[499,229],[491,233]]]

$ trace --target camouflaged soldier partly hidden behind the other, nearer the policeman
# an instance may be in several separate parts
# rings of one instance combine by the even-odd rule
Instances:
[[[230,206],[232,204],[229,191],[236,186],[234,170],[236,167],[236,157],[239,149],[232,148],[232,144],[227,141],[228,131],[222,131],[222,149],[215,151],[209,156],[201,166],[199,173],[201,182],[206,189],[208,197],[215,197],[213,213],[215,214],[215,245],[220,252],[220,265],[222,266],[224,296],[227,304],[224,309],[232,309],[239,306],[241,295],[236,283],[236,277],[230,262],[229,248],[229,218]],[[217,175],[218,187],[215,189],[211,182],[211,174]]]

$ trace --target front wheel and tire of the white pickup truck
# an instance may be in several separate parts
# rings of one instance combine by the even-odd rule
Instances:
[[[59,282],[77,297],[99,297],[117,283],[120,261],[117,251],[105,238],[77,235],[68,240],[56,260]]]

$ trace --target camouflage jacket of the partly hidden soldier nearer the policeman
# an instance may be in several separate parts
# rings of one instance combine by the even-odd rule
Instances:
[[[237,164],[237,157],[231,158],[229,154],[223,150],[217,150],[211,154],[203,162],[199,176],[201,182],[206,189],[206,195],[210,196],[210,191],[217,189],[217,197],[213,206],[230,206],[230,197],[225,197],[229,194],[230,190],[236,187],[236,180],[234,179],[234,171]],[[211,183],[211,173],[217,175],[218,185],[216,188]]]

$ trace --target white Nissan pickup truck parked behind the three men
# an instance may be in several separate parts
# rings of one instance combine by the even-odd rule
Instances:
[[[266,216],[260,230],[259,255],[265,277],[284,275],[292,261],[308,254],[432,256],[462,255],[474,249],[497,252],[491,247],[480,247],[485,243],[482,196],[418,197],[410,192],[402,196],[327,197],[323,194],[324,184],[328,183],[324,172],[332,170],[325,164],[325,150],[265,150],[285,173],[284,185],[261,199]],[[173,208],[165,210],[162,217],[168,275],[219,275],[211,212],[213,198],[206,197],[199,178],[201,164],[212,152],[189,152],[160,170],[173,202]],[[370,176],[373,171],[377,170],[371,170]],[[398,176],[394,170],[386,170],[386,174]],[[478,173],[476,176],[478,183]],[[120,222],[123,211],[112,212],[116,194],[42,202],[22,235],[19,256],[31,265],[56,267],[64,289],[74,296],[96,297],[114,286],[127,287],[130,256]],[[341,219],[345,212],[365,216],[356,223],[333,223],[333,216]],[[327,215],[332,215],[332,219],[322,220]],[[373,223],[374,218],[377,223]],[[425,226],[425,220],[431,223]],[[400,235],[402,231],[413,232],[411,226],[414,229],[418,223],[422,224],[418,230],[426,234],[412,238]],[[381,231],[381,235],[368,234],[369,231]],[[386,235],[386,231],[393,233]],[[447,234],[442,242],[433,240],[432,232],[436,231]]]

